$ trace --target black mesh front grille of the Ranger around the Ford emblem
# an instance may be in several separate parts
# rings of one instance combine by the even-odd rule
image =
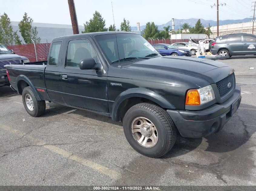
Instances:
[[[216,82],[220,97],[225,97],[229,92],[231,92],[234,89],[235,83],[234,83],[234,73],[229,75],[228,77]],[[230,88],[228,87],[228,84],[231,83]]]

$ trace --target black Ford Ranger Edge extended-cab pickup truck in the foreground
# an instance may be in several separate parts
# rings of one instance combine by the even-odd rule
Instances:
[[[230,66],[161,56],[136,33],[58,37],[47,65],[5,67],[31,116],[45,112],[45,100],[110,116],[123,121],[136,151],[153,158],[172,148],[177,130],[194,138],[220,131],[241,101]]]

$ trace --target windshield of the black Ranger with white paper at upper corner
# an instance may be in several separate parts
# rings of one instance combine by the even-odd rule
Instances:
[[[111,64],[116,65],[118,62],[118,53],[120,62],[161,56],[147,40],[136,33],[98,35],[95,39]]]

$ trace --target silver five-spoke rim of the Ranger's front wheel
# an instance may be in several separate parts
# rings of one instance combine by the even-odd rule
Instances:
[[[143,147],[154,147],[158,142],[155,125],[145,117],[137,117],[131,123],[133,138]]]

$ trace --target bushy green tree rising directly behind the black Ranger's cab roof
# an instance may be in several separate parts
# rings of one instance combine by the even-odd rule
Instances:
[[[108,31],[108,28],[106,28],[105,25],[105,20],[101,17],[101,14],[98,11],[95,11],[93,18],[90,19],[89,22],[85,22],[85,30],[82,31],[82,33]]]

